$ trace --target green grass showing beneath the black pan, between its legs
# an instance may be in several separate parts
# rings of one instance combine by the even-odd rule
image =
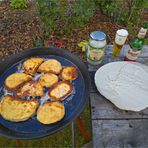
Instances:
[[[84,111],[81,113],[82,121],[84,123],[86,131],[91,137],[91,124],[90,124],[90,111],[89,105],[85,107]],[[21,147],[64,147],[69,148],[72,146],[71,142],[71,125],[69,125],[64,130],[48,136],[46,138],[36,139],[36,140],[20,140]],[[77,147],[82,147],[85,141],[76,126],[76,144]],[[16,141],[12,139],[7,139],[0,137],[0,147],[16,147]]]

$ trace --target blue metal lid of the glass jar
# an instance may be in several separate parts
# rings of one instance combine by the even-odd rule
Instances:
[[[102,31],[94,31],[94,32],[91,32],[90,37],[93,40],[96,40],[96,41],[102,41],[102,40],[105,40],[106,39],[106,35]]]

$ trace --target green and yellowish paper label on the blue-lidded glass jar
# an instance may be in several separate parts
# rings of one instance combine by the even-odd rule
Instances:
[[[89,46],[87,57],[94,62],[101,61],[104,56],[104,50],[105,50],[105,47],[94,48],[94,47]]]

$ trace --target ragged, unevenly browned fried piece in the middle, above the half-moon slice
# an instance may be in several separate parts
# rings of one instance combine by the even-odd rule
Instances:
[[[19,97],[35,97],[44,95],[44,89],[39,82],[28,82],[17,92]]]

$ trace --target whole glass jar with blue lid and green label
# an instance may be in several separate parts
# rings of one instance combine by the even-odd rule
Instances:
[[[92,65],[102,62],[106,47],[106,35],[101,31],[94,31],[90,34],[87,47],[87,61]]]

